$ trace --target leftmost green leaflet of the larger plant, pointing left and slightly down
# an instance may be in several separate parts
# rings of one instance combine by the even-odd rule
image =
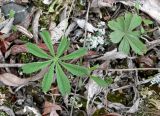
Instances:
[[[29,74],[29,73],[36,72],[36,71],[38,71],[42,68],[45,68],[51,63],[52,63],[52,60],[48,60],[48,61],[45,61],[45,62],[28,63],[28,64],[22,66],[22,69],[23,69],[24,73]]]

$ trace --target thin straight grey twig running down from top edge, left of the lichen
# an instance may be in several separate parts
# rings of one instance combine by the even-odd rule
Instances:
[[[84,43],[83,43],[83,47],[86,47],[86,39],[87,39],[87,22],[88,22],[88,15],[89,15],[89,9],[90,9],[90,1],[88,0],[88,9],[87,9],[87,14],[86,14],[86,20],[85,20],[85,33],[84,33]]]

